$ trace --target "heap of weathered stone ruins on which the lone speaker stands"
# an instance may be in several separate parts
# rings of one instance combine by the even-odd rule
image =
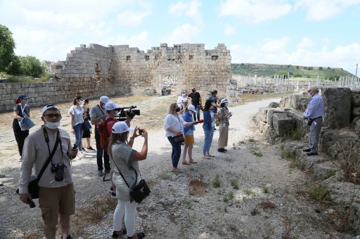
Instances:
[[[319,94],[324,99],[319,156],[308,157],[302,150],[307,146],[310,128],[303,119],[309,100],[306,91],[260,108],[253,120],[271,143],[283,144],[287,158],[296,160],[302,170],[310,172],[314,180],[328,188],[332,201],[342,205],[340,215],[350,212],[349,224],[359,234],[360,92],[348,87],[321,87]],[[346,175],[349,172],[351,175]],[[351,182],[344,179],[346,176],[350,176]]]

